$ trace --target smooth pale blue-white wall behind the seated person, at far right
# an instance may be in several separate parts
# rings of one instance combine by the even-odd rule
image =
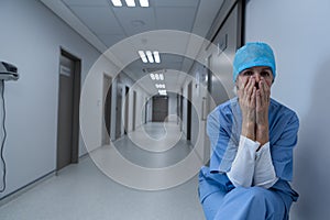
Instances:
[[[329,10],[328,0],[246,4],[246,42],[265,41],[275,51],[278,76],[272,96],[300,119],[293,182],[300,198],[293,206],[293,220],[330,215]]]

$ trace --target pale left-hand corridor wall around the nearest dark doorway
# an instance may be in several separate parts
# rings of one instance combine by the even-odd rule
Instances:
[[[6,82],[8,175],[2,198],[56,168],[59,47],[81,58],[81,87],[100,53],[36,0],[1,0],[0,26],[0,61],[16,65],[20,73],[18,81]],[[101,109],[97,101],[91,106]],[[91,125],[100,131],[100,124]],[[84,153],[80,138],[79,155]]]

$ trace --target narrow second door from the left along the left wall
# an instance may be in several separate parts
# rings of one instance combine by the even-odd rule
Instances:
[[[110,144],[110,131],[111,131],[111,96],[112,96],[112,78],[108,75],[103,75],[103,113],[102,113],[102,144]]]

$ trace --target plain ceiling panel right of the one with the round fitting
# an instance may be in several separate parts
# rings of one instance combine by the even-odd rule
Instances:
[[[156,9],[158,29],[169,29],[190,32],[194,26],[196,8],[169,8]]]

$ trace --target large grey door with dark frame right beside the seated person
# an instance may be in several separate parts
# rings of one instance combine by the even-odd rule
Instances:
[[[227,2],[230,3],[229,1]],[[232,59],[237,48],[242,43],[243,29],[243,1],[233,6],[223,7],[222,11],[228,11],[226,16],[219,16],[218,29],[215,29],[211,42],[218,45],[217,52],[211,52],[207,61],[207,90],[206,96],[206,113],[209,113],[217,105],[220,105],[233,95],[232,88]],[[228,8],[228,10],[226,9]],[[231,10],[229,10],[231,8]],[[230,62],[229,62],[230,59]],[[212,72],[210,70],[212,69]],[[220,80],[221,79],[221,80]],[[205,130],[206,130],[205,123]],[[205,163],[208,163],[211,155],[210,142],[205,135]]]

